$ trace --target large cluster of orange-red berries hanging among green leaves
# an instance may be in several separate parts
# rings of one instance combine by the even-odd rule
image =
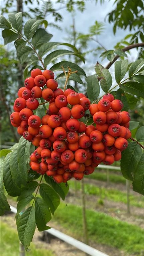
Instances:
[[[49,103],[42,118],[34,114],[40,98]],[[58,88],[52,71],[33,69],[18,91],[10,120],[35,146],[30,155],[31,169],[61,183],[73,177],[81,180],[98,164],[110,165],[121,159],[131,137],[130,116],[121,111],[122,107],[112,94],[91,104],[83,93]],[[87,110],[94,125],[80,121]]]

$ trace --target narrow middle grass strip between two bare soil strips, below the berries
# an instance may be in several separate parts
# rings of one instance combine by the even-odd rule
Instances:
[[[73,180],[70,180],[68,183],[71,189],[75,189],[75,184]],[[81,184],[77,183],[76,188],[80,189]],[[108,199],[114,202],[122,202],[125,204],[127,203],[127,194],[125,192],[121,192],[120,190],[97,187],[95,185],[85,183],[84,191],[86,194],[89,195],[100,196],[101,199]],[[139,199],[137,199],[137,197],[134,195],[130,195],[129,199],[131,206],[136,206],[140,208],[144,207],[144,197],[142,195],[139,195]]]

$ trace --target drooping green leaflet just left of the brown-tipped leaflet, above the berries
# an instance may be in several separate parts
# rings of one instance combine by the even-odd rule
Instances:
[[[86,78],[87,82],[87,95],[91,101],[95,101],[100,93],[100,85],[97,79],[97,75],[91,75]]]

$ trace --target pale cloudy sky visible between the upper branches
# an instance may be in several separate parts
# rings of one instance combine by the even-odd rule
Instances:
[[[29,5],[31,8],[37,7],[37,1],[32,0],[33,5]],[[43,4],[43,2],[46,0],[40,0],[40,5]],[[65,0],[66,2],[67,0]],[[1,7],[5,5],[5,0],[0,0]],[[122,29],[117,29],[116,34],[113,34],[113,24],[108,23],[106,15],[111,12],[113,9],[115,9],[115,0],[105,0],[103,4],[98,1],[97,3],[95,0],[85,0],[85,10],[81,13],[79,10],[75,11],[75,15],[73,16],[71,13],[69,13],[66,9],[61,9],[58,12],[62,15],[63,21],[57,22],[56,24],[63,28],[63,31],[59,31],[58,29],[54,27],[48,27],[47,31],[51,34],[53,34],[53,37],[51,41],[53,42],[67,42],[68,35],[66,34],[66,29],[69,30],[72,25],[73,17],[75,18],[75,29],[79,33],[88,34],[89,33],[89,27],[94,25],[95,21],[103,22],[105,25],[104,32],[97,37],[98,41],[101,42],[102,45],[105,46],[107,50],[113,49],[113,47],[117,44],[117,42],[121,41],[128,33],[129,31],[123,31]],[[14,0],[15,8],[16,9],[16,0]],[[59,9],[62,7],[62,4],[57,4],[56,0],[52,0],[53,6],[55,9]],[[23,5],[24,11],[28,11],[28,8],[26,5]],[[7,18],[7,15],[5,15]],[[49,15],[47,16],[47,21],[53,22],[54,18]],[[2,40],[1,40],[2,43]],[[69,42],[71,43],[71,42]],[[94,41],[91,41],[88,45],[88,50],[91,50],[92,48],[96,48],[98,44],[96,44]],[[136,55],[136,51],[133,50],[132,56],[130,58],[133,58]],[[87,55],[86,65],[89,63],[93,65],[93,71],[94,71],[94,65],[99,60],[99,54],[98,56],[94,57],[93,54]],[[109,61],[104,60],[103,65],[106,65]]]

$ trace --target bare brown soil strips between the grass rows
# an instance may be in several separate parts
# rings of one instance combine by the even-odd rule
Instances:
[[[90,180],[85,179],[85,182],[90,182]],[[123,184],[113,184],[113,183],[107,184],[106,182],[97,181],[97,180],[91,180],[91,183],[92,182],[99,187],[114,188],[114,189],[118,189],[123,192],[126,192],[126,187]],[[130,189],[130,194],[134,194],[139,199],[139,194],[134,192],[132,188]],[[99,200],[99,197],[97,196],[86,195],[86,207],[89,209],[93,209],[95,211],[104,212],[118,220],[125,221],[127,223],[131,223],[141,228],[144,228],[144,209],[143,208],[130,206],[130,214],[128,214],[127,206],[124,203],[114,202],[110,200],[103,200],[103,205],[101,205],[98,203],[98,200]],[[81,200],[80,191],[77,191],[77,196],[75,197],[74,191],[70,189],[65,199],[65,203],[81,205],[82,200]],[[11,203],[11,204],[15,206],[14,203]],[[10,214],[8,216],[2,216],[1,220],[7,222],[11,227],[16,229],[14,216],[15,216],[14,214]],[[58,223],[54,221],[50,221],[49,225],[65,234],[68,234],[66,229],[64,229],[62,226],[60,226]],[[45,248],[47,250],[53,251],[55,256],[86,256],[84,252],[78,250],[77,248],[51,235],[48,235],[47,232],[38,232],[36,230],[33,238],[33,242],[35,243],[37,248]],[[132,255],[126,254],[125,252],[120,251],[116,248],[98,244],[98,243],[89,243],[89,245],[109,256],[138,256],[134,254]]]

